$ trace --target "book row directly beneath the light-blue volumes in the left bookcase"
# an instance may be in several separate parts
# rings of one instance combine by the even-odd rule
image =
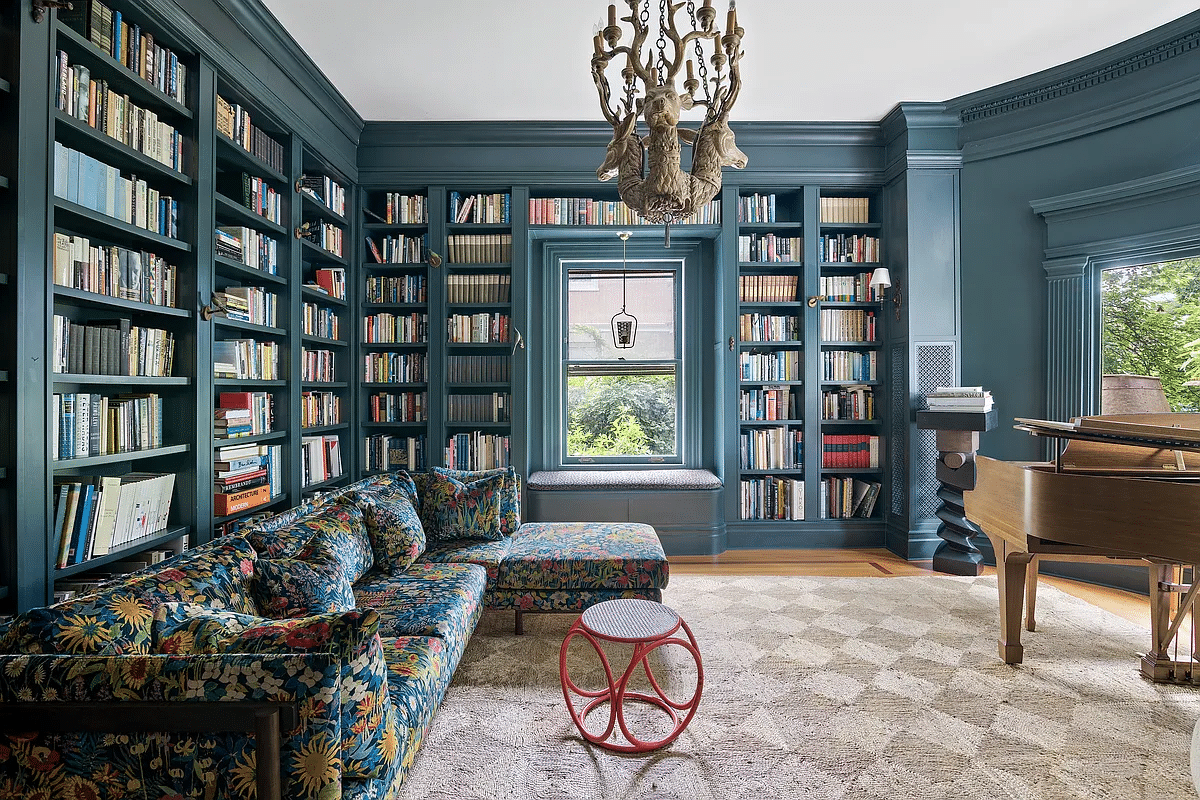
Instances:
[[[54,231],[54,283],[106,297],[175,307],[178,270],[161,255]]]

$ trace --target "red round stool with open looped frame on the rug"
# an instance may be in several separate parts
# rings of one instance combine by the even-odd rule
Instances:
[[[686,639],[674,636],[680,627],[688,634]],[[604,664],[605,678],[608,681],[607,688],[596,691],[580,688],[568,674],[566,649],[570,646],[571,639],[577,636],[587,639],[593,649],[595,649],[596,655],[600,656],[600,663]],[[613,675],[612,667],[608,666],[608,658],[600,648],[599,640],[634,645],[634,655],[630,656],[625,672]],[[667,645],[679,645],[696,660],[696,691],[684,703],[676,703],[666,696],[666,692],[662,691],[659,681],[654,678],[654,673],[650,672],[650,664],[647,661],[647,656],[652,651]],[[625,687],[629,684],[629,678],[637,669],[638,664],[646,670],[646,676],[654,688],[654,694],[626,691]],[[575,625],[571,626],[571,630],[566,632],[566,638],[563,639],[563,646],[558,654],[558,675],[563,682],[563,697],[566,699],[566,708],[571,712],[571,720],[575,721],[575,727],[580,729],[583,738],[593,745],[599,745],[619,753],[644,753],[674,741],[676,736],[683,733],[683,729],[688,727],[691,717],[696,714],[696,708],[700,705],[700,693],[704,687],[704,667],[701,664],[700,646],[696,644],[696,637],[691,634],[691,628],[688,627],[688,624],[683,621],[679,614],[662,603],[649,600],[606,600],[584,610]],[[582,710],[576,710],[571,698],[572,692],[580,697],[592,699]],[[642,741],[630,733],[629,727],[625,724],[625,700],[648,703],[666,711],[671,717],[673,729],[656,741]],[[605,703],[608,704],[608,724],[602,733],[592,733],[586,727],[586,720],[592,711]],[[613,729],[618,727],[620,735],[625,738],[625,742],[628,744],[608,741],[608,738],[613,734]]]

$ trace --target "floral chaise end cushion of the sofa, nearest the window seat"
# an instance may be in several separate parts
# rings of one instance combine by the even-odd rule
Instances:
[[[521,527],[500,563],[500,589],[661,589],[668,567],[649,525],[538,522]]]

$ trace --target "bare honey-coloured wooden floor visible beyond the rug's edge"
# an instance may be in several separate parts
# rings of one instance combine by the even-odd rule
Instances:
[[[720,555],[672,555],[671,571],[677,575],[806,575],[838,578],[938,575],[929,561],[905,561],[886,549],[726,551]],[[985,575],[995,575],[995,570],[988,567]],[[1150,628],[1150,603],[1145,595],[1049,576],[1043,576],[1039,582]]]

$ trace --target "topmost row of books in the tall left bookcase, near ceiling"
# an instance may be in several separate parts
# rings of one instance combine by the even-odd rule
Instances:
[[[187,67],[139,23],[100,0],[68,4],[59,8],[58,18],[162,94],[187,104]]]

